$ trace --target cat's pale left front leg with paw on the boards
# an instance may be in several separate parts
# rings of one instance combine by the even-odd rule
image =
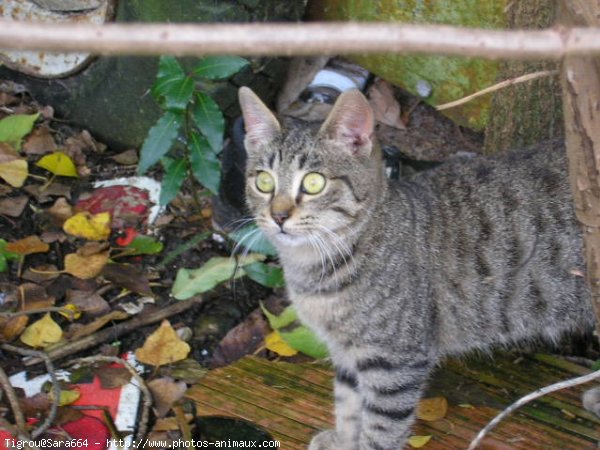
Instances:
[[[358,449],[361,397],[356,374],[337,368],[335,373],[335,430],[326,430],[310,442],[309,450]]]

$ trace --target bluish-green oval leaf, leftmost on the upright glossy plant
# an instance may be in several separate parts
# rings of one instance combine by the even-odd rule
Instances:
[[[137,170],[139,175],[143,175],[171,149],[179,134],[181,123],[182,114],[180,112],[167,111],[150,128],[140,150],[140,162]]]

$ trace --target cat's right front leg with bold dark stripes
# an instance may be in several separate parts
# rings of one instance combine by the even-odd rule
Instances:
[[[398,450],[410,436],[433,361],[372,357],[357,364],[362,396],[360,450]]]

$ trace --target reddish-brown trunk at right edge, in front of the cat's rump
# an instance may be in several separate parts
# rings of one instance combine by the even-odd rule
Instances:
[[[561,7],[563,25],[600,26],[600,0],[563,0]],[[600,336],[600,61],[567,58],[561,78],[569,177]]]

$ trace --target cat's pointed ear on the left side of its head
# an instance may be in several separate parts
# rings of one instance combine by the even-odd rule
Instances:
[[[260,144],[271,142],[280,133],[281,126],[269,108],[250,88],[241,87],[238,96],[246,128],[244,144],[248,151],[252,151]]]

